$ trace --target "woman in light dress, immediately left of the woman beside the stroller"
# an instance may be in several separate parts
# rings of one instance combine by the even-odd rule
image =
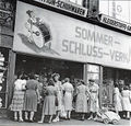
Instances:
[[[83,81],[78,80],[75,112],[82,115],[82,121],[87,113],[87,95],[90,94],[87,87]]]

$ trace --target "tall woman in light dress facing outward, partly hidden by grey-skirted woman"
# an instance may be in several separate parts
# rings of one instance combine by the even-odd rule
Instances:
[[[58,99],[58,106],[56,106],[57,107],[57,115],[52,122],[60,121],[60,113],[61,113],[61,108],[62,108],[62,84],[61,84],[61,81],[59,79],[60,79],[59,73],[52,75],[52,80],[55,82],[55,88],[57,90],[57,99]]]

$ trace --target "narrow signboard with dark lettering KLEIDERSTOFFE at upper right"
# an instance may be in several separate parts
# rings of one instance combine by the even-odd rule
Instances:
[[[117,20],[115,18],[105,15],[105,14],[99,14],[99,21],[106,25],[122,30],[124,32],[131,33],[131,24],[126,23],[123,21]]]

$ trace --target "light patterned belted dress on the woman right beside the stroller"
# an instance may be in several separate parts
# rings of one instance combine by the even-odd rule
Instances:
[[[93,85],[88,87],[90,89],[90,112],[97,112],[99,108],[98,105],[98,84],[94,83]]]

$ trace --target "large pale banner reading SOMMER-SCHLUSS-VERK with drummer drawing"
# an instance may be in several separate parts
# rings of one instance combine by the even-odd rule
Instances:
[[[17,2],[13,50],[131,69],[131,37]]]

